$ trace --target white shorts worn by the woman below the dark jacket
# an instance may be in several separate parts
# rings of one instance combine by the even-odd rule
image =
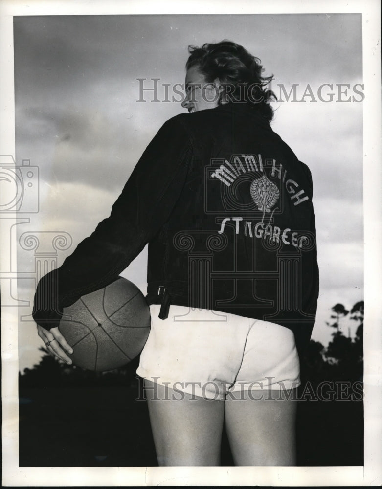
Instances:
[[[151,305],[151,330],[136,373],[206,399],[300,385],[294,334],[284,326],[217,311]]]

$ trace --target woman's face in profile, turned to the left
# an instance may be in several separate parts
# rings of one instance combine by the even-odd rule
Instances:
[[[213,83],[206,82],[197,66],[189,68],[185,79],[186,98],[181,104],[182,107],[190,113],[217,107],[219,90],[216,82],[220,85],[219,80]]]

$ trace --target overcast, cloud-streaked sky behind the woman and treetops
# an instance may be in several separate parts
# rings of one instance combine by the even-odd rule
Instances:
[[[15,17],[16,160],[29,159],[40,171],[40,212],[18,225],[19,235],[69,233],[73,246],[59,253],[60,265],[109,215],[162,123],[184,111],[180,102],[164,101],[164,84],[171,99],[171,87],[184,82],[188,44],[222,39],[262,60],[276,95],[280,85],[287,93],[296,85],[294,99],[281,91],[272,128],[313,175],[321,278],[313,339],[326,345],[330,308],[363,299],[358,14]],[[146,79],[145,88],[160,79],[160,101],[145,92],[146,101],[138,102],[138,78]],[[323,84],[333,86],[321,89],[328,102],[318,97]],[[338,84],[348,86],[343,94]],[[144,250],[124,272],[144,292],[146,259]],[[18,270],[33,272],[33,251],[19,250]],[[33,294],[33,280],[21,279],[19,299],[32,301]],[[345,334],[348,327],[354,334],[355,325],[344,321]],[[36,363],[39,346],[34,323],[21,322],[21,370]]]

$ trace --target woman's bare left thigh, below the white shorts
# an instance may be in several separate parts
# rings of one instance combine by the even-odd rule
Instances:
[[[165,389],[148,380],[144,385],[158,464],[219,466],[224,401]]]

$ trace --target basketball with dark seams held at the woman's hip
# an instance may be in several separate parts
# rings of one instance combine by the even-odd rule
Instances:
[[[142,292],[123,277],[83,295],[63,311],[59,330],[73,349],[70,358],[88,370],[126,365],[142,351],[150,332],[149,306]]]

